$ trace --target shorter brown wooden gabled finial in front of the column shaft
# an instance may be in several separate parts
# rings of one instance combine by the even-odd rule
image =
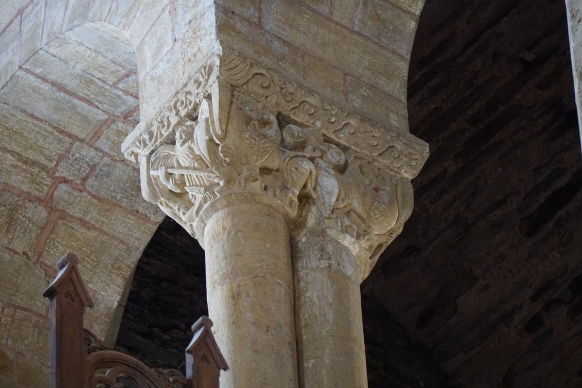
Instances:
[[[211,328],[208,316],[201,316],[192,325],[194,337],[186,348],[188,388],[218,388],[220,371],[228,369]]]

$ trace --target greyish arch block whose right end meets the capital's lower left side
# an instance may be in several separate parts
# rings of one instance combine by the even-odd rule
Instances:
[[[164,218],[157,206],[146,202],[141,196],[139,173],[119,162],[103,158],[85,186],[92,193],[139,211],[152,220],[161,221]]]

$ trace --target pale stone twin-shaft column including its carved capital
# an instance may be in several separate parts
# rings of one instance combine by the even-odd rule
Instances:
[[[206,250],[221,386],[367,386],[359,283],[427,145],[226,48],[148,117],[123,149]]]

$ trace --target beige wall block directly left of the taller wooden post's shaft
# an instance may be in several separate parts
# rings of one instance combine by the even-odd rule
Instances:
[[[42,296],[41,296],[42,298]],[[47,299],[44,299],[48,307]],[[8,344],[30,361],[48,365],[49,359],[49,322],[25,311],[16,310]]]

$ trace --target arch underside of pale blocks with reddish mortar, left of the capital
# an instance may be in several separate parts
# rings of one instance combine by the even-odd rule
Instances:
[[[0,386],[48,386],[41,293],[67,251],[96,305],[87,328],[115,340],[127,280],[161,221],[120,151],[137,95],[133,51],[102,24],[51,40],[0,89]]]

